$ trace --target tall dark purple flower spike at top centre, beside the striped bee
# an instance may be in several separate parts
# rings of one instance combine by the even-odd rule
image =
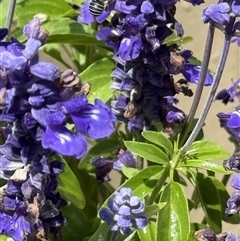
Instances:
[[[192,52],[177,44],[166,45],[173,31],[182,38],[182,25],[174,18],[177,1],[111,1],[100,16],[90,11],[91,0],[80,9],[79,21],[102,23],[97,39],[114,51],[116,68],[112,72],[111,88],[117,99],[111,102],[113,112],[128,122],[130,131],[149,129],[152,121],[161,122],[170,135],[175,124],[185,119],[175,104],[175,95],[192,96],[188,83],[198,83],[200,67],[189,62]],[[188,1],[193,5],[203,1]],[[116,13],[106,21],[110,12]],[[169,27],[170,26],[170,27]],[[182,74],[177,81],[173,75]],[[205,85],[211,85],[207,74]]]

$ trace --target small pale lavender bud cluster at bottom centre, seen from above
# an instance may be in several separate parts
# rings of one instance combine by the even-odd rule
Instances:
[[[110,225],[112,231],[129,235],[132,228],[143,229],[148,219],[144,215],[145,205],[137,196],[132,196],[130,188],[122,187],[108,200],[108,208],[99,211],[100,218]]]

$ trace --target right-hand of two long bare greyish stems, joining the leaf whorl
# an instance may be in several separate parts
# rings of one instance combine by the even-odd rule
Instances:
[[[212,84],[211,89],[209,91],[209,94],[208,94],[207,100],[205,102],[205,105],[203,107],[200,118],[199,118],[196,126],[194,127],[191,135],[189,136],[188,140],[186,141],[186,143],[184,144],[184,146],[181,149],[183,152],[188,150],[188,148],[193,143],[193,141],[197,137],[199,131],[201,130],[201,128],[204,124],[204,121],[205,121],[205,119],[207,117],[207,114],[209,112],[209,109],[212,105],[213,98],[215,96],[215,93],[217,91],[217,87],[219,85],[219,82],[220,82],[220,79],[221,79],[221,76],[222,76],[222,73],[223,73],[223,69],[224,69],[224,66],[225,66],[225,63],[226,63],[226,60],[227,60],[230,44],[231,44],[231,35],[225,35],[224,46],[223,46],[223,50],[222,50],[222,53],[221,53],[220,60],[218,62],[216,74],[214,75],[213,84]]]

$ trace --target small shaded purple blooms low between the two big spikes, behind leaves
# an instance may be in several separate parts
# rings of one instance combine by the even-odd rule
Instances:
[[[109,172],[113,170],[121,171],[123,166],[136,168],[137,160],[130,151],[120,150],[118,159],[107,160],[103,157],[95,157],[92,165],[96,167],[96,178],[98,182],[110,181]]]

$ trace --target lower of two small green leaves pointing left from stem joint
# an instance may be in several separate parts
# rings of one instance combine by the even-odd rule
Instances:
[[[125,141],[124,144],[133,154],[148,161],[158,164],[167,164],[169,161],[167,154],[152,144],[135,141]]]

